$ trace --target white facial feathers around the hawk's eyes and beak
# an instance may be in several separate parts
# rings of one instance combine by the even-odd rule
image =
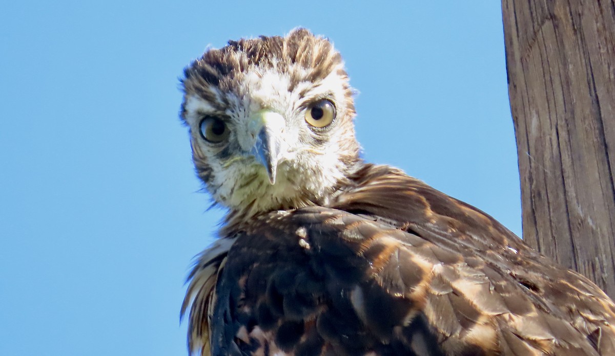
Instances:
[[[287,72],[276,67],[261,70],[257,67],[247,71],[233,91],[223,92],[210,87],[217,103],[208,103],[197,95],[185,100],[185,118],[192,130],[192,140],[206,157],[211,169],[207,182],[213,198],[234,211],[245,211],[247,215],[274,209],[288,209],[313,203],[326,204],[327,197],[346,175],[346,164],[341,161],[344,132],[337,127],[339,118],[347,115],[345,78],[338,74],[343,69],[339,63],[330,74],[316,83],[308,80],[298,82],[289,91],[289,72],[307,69],[296,65]],[[334,122],[325,133],[315,133],[305,121],[306,104],[328,98],[335,104],[338,122]],[[199,134],[199,123],[204,115],[220,114],[216,107],[226,105],[228,128],[232,130],[228,142],[243,152],[232,152],[231,157],[220,159],[218,153],[223,147],[213,146]],[[249,118],[259,110],[268,109],[285,118],[281,144],[283,156],[277,168],[274,185],[269,184],[268,174],[255,158],[247,155],[254,145],[254,137],[248,135]],[[319,145],[313,144],[319,136]],[[354,137],[346,137],[352,139]]]

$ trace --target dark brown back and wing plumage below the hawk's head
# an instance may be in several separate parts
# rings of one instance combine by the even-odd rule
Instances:
[[[211,322],[194,318],[212,355],[613,353],[615,306],[585,277],[400,171],[353,179],[330,207],[235,227]]]

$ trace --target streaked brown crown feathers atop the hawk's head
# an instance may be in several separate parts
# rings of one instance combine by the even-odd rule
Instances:
[[[343,79],[347,73],[343,68],[341,55],[331,42],[314,36],[304,28],[295,29],[288,36],[240,39],[229,41],[226,47],[210,49],[184,69],[185,78],[181,80],[186,93],[196,93],[202,98],[216,103],[212,87],[221,91],[234,91],[245,74],[252,71],[263,72],[276,69],[290,74],[288,91],[294,91],[301,82],[318,82],[325,79],[331,71]],[[349,114],[354,114],[352,88],[344,85]],[[239,94],[239,93],[238,93]],[[181,106],[182,117],[185,112],[184,101]],[[228,104],[228,103],[226,103]],[[225,107],[220,106],[220,110]]]

